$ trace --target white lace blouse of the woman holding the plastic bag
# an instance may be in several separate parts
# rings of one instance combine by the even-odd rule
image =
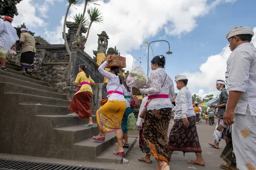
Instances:
[[[172,101],[175,99],[174,85],[171,77],[167,75],[166,81],[163,85],[166,72],[163,68],[157,68],[152,71],[148,79],[146,88],[141,88],[140,92],[148,94],[148,96],[154,94],[168,94],[168,98],[153,98],[148,104],[148,110],[161,109],[161,108],[172,108]],[[161,88],[163,85],[163,88]]]

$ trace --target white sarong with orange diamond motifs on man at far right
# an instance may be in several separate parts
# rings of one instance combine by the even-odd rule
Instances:
[[[249,105],[246,114],[235,114],[232,125],[232,141],[239,170],[256,170],[256,116]]]

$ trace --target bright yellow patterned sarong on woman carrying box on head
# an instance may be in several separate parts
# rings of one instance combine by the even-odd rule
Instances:
[[[96,113],[97,123],[104,133],[112,133],[121,129],[125,107],[125,101],[111,100],[99,108]]]

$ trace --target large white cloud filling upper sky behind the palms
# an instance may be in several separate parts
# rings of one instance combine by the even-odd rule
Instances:
[[[166,34],[172,36],[186,34],[197,26],[198,17],[208,14],[220,3],[235,1],[215,0],[208,3],[207,0],[161,0],[156,3],[154,0],[110,0],[104,3],[104,0],[101,0],[97,2],[100,4],[97,7],[102,12],[104,23],[93,23],[85,51],[93,56],[93,50],[96,50],[98,45],[97,34],[104,30],[110,37],[108,47],[116,45],[121,55],[129,54],[129,51],[140,48],[143,40],[154,37],[163,29]],[[82,11],[83,6],[71,7],[69,16]],[[61,27],[46,33],[49,42],[63,42]],[[56,37],[51,38],[49,35]],[[131,67],[128,64],[127,66]]]

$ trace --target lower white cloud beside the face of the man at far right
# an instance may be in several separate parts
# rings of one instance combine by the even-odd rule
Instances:
[[[254,34],[256,34],[256,27],[253,28]],[[251,41],[256,45],[256,36],[253,37]],[[227,71],[227,59],[230,56],[231,51],[229,45],[226,45],[220,54],[212,55],[208,57],[207,61],[200,66],[200,71],[193,73],[184,72],[182,74],[186,75],[189,79],[188,87],[190,91],[198,91],[199,96],[204,98],[207,94],[213,94],[217,96],[220,94],[215,88],[215,80],[223,79],[225,80],[225,72]],[[205,91],[209,91],[205,93]]]

